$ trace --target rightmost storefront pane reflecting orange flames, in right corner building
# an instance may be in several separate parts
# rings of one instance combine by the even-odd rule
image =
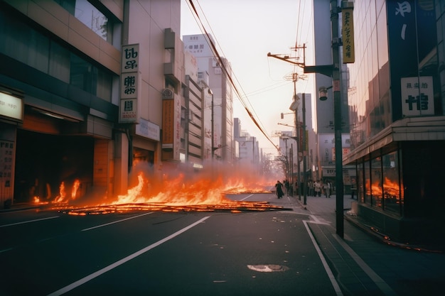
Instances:
[[[385,211],[401,214],[403,199],[399,183],[399,159],[397,151],[382,156],[383,192]]]

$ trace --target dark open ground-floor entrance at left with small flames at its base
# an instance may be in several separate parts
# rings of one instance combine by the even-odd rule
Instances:
[[[61,185],[75,197],[82,197],[92,186],[94,138],[54,136],[18,130],[14,202],[52,202],[60,197]]]

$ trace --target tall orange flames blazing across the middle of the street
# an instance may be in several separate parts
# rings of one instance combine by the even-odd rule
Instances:
[[[278,209],[282,207],[268,206],[265,202],[239,202],[225,197],[225,194],[239,193],[270,193],[267,188],[273,187],[275,181],[258,179],[258,175],[253,174],[252,168],[242,172],[237,170],[235,173],[233,168],[224,170],[218,168],[210,172],[193,171],[176,173],[171,175],[165,172],[161,175],[151,172],[146,177],[144,172],[140,171],[136,175],[136,184],[127,190],[127,194],[118,195],[116,199],[107,203],[99,202],[96,206],[87,206],[83,209],[88,214],[106,214],[109,212],[134,210],[134,209],[150,209],[162,210],[170,212],[178,211],[209,211],[215,209],[231,209],[232,212],[239,212],[240,209],[255,210]],[[177,171],[177,170],[176,170]],[[161,172],[159,170],[159,172]],[[174,175],[176,174],[176,175]],[[261,184],[265,185],[261,185]],[[73,192],[80,186],[80,182],[75,182]],[[75,193],[72,194],[72,198]],[[104,199],[107,199],[104,197]],[[60,185],[60,197],[55,199],[59,204],[65,203],[65,185]],[[85,202],[87,202],[85,200]],[[77,202],[77,204],[79,204]],[[90,202],[91,204],[91,202]],[[60,209],[62,209],[60,207]],[[66,207],[65,207],[66,209]],[[78,210],[78,211],[77,211]],[[70,210],[69,214],[80,215],[83,210]]]

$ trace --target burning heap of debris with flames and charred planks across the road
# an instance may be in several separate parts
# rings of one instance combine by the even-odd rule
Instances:
[[[252,178],[252,177],[250,177]],[[117,196],[111,202],[74,207],[70,202],[75,201],[80,182],[76,180],[71,191],[71,198],[67,197],[65,184],[60,185],[58,197],[51,203],[52,209],[73,215],[109,214],[129,211],[161,211],[161,212],[250,212],[286,210],[268,202],[235,201],[226,194],[241,193],[271,193],[267,187],[257,185],[249,177],[234,177],[233,180],[213,177],[213,174],[185,175],[176,177],[162,175],[161,180],[147,178],[143,172],[137,175],[137,184],[127,190],[127,194]],[[75,202],[79,204],[79,202]]]

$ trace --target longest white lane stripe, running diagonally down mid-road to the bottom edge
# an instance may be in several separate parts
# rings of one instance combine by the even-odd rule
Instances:
[[[117,268],[119,265],[127,263],[127,261],[130,261],[130,260],[136,258],[137,256],[141,256],[142,254],[146,253],[147,251],[150,251],[152,248],[155,248],[156,246],[159,246],[162,243],[165,243],[166,241],[173,239],[175,236],[178,236],[179,234],[182,234],[183,232],[188,231],[188,229],[193,228],[194,226],[200,224],[201,222],[205,221],[208,218],[210,218],[210,216],[205,216],[203,219],[200,219],[200,220],[196,221],[195,223],[190,224],[190,225],[184,227],[183,229],[176,231],[174,234],[166,236],[164,239],[161,239],[160,241],[157,241],[156,243],[152,243],[150,246],[146,246],[145,248],[142,248],[141,250],[137,251],[136,253],[132,253],[132,255],[122,258],[121,260],[116,261],[116,262],[102,268],[101,270],[97,270],[95,273],[87,275],[85,278],[81,278],[80,280],[77,280],[74,283],[63,287],[60,290],[52,292],[52,293],[48,294],[48,296],[63,295],[66,292],[69,292],[70,290],[73,290],[76,287],[79,287],[80,285],[83,285],[83,284],[89,282],[90,280],[97,278],[99,275],[107,273],[107,271],[112,270],[113,268]]]

